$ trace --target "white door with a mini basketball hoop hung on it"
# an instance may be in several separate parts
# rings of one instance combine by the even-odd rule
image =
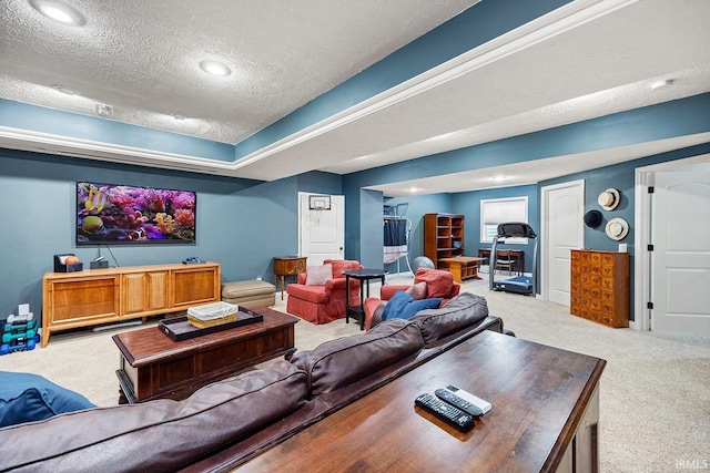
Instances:
[[[300,256],[308,265],[321,265],[324,259],[343,259],[345,255],[345,196],[332,195],[331,209],[312,209],[314,194],[298,193]]]

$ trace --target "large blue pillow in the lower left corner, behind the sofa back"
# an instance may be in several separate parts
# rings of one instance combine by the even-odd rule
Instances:
[[[0,428],[90,408],[87,398],[45,378],[0,371]]]

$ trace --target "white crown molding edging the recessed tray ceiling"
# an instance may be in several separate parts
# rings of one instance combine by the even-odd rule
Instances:
[[[241,177],[239,169],[322,134],[390,107],[448,81],[515,54],[546,39],[636,3],[638,0],[576,0],[458,55],[357,105],[307,126],[254,153],[226,163],[105,142],[0,126],[0,146],[140,166]]]

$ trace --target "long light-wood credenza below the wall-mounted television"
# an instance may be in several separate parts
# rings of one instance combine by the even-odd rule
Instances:
[[[42,347],[52,331],[186,310],[220,300],[220,265],[152,265],[47,273]]]

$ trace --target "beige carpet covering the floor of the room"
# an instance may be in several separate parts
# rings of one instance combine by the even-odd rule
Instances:
[[[489,292],[486,280],[467,282],[464,290],[486,297],[490,313],[501,317],[518,338],[607,360],[601,378],[602,471],[710,469],[710,336],[610,329],[570,316],[556,304]],[[276,299],[275,309],[285,311],[285,301],[280,295]],[[42,374],[99,405],[115,405],[119,352],[111,336],[121,330],[126,329],[52,335],[45,349],[0,357],[0,370]],[[296,347],[306,350],[358,332],[357,323],[344,320],[324,326],[300,321]]]

